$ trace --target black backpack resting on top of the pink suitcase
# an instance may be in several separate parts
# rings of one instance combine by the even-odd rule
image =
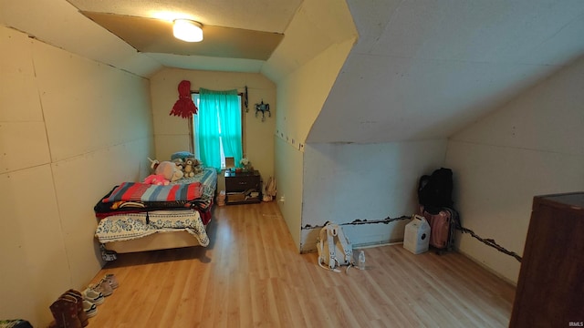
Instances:
[[[424,210],[438,214],[444,207],[453,207],[453,170],[436,169],[432,175],[422,175],[418,184],[418,202]]]

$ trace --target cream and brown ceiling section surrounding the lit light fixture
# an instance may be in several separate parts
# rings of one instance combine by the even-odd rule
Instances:
[[[68,2],[82,15],[162,65],[198,69],[207,68],[206,58],[266,61],[284,37],[284,30],[300,4],[300,0]],[[172,21],[177,18],[201,23],[203,41],[175,39]],[[189,58],[195,59],[192,65],[186,64]],[[257,63],[244,64],[238,70],[246,71],[247,67],[259,70]]]

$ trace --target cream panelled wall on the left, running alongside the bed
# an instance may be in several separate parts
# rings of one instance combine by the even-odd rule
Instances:
[[[148,172],[148,80],[0,27],[0,318],[34,326],[102,266],[93,206]]]

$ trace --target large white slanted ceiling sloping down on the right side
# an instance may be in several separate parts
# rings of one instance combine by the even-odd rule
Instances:
[[[582,0],[349,0],[360,34],[307,142],[445,138],[584,55]]]

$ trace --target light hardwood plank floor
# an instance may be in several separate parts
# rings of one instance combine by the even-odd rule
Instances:
[[[515,287],[457,253],[366,249],[365,271],[298,254],[275,202],[217,207],[207,248],[120,254],[89,327],[506,327]]]

